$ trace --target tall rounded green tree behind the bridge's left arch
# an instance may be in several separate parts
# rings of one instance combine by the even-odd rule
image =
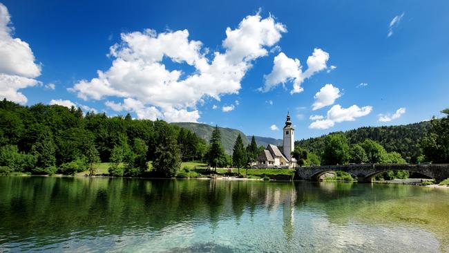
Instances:
[[[323,165],[344,165],[350,158],[347,138],[343,134],[331,134],[325,138],[321,161]]]

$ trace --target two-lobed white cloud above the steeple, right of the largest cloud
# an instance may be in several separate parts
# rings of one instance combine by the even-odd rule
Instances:
[[[259,91],[268,92],[279,84],[285,85],[287,82],[292,82],[293,89],[290,93],[300,93],[303,91],[301,84],[304,80],[326,69],[328,60],[328,53],[321,48],[315,48],[312,55],[307,58],[307,71],[303,72],[303,66],[299,59],[289,58],[285,53],[280,52],[274,57],[273,69],[271,73],[264,76],[265,83],[263,87],[259,88]]]

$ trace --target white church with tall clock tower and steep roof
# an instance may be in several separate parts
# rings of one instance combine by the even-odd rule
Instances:
[[[287,113],[287,121],[283,128],[284,142],[283,152],[274,144],[268,144],[267,148],[260,153],[257,158],[258,168],[294,168],[296,159],[292,157],[292,151],[295,149],[294,139],[295,129],[292,127],[290,113]]]

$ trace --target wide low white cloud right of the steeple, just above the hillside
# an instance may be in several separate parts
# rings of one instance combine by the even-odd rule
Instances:
[[[356,118],[363,117],[370,114],[372,111],[372,106],[363,106],[360,108],[355,104],[343,108],[340,104],[332,106],[329,111],[327,111],[327,116],[324,118],[322,115],[312,115],[311,120],[315,120],[309,125],[310,129],[329,129],[334,127],[335,123],[344,121],[354,121]]]

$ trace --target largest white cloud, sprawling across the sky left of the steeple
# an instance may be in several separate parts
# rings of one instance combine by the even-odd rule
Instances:
[[[121,97],[122,103],[106,105],[115,111],[135,111],[137,118],[196,122],[198,102],[238,93],[253,60],[267,55],[283,32],[283,24],[257,13],[245,17],[237,28],[227,28],[224,52],[210,54],[201,41],[189,39],[188,30],[123,33],[121,43],[111,46],[111,68],[80,80],[69,91],[83,100]],[[181,66],[169,70],[162,59],[188,64],[195,71],[183,73]]]

